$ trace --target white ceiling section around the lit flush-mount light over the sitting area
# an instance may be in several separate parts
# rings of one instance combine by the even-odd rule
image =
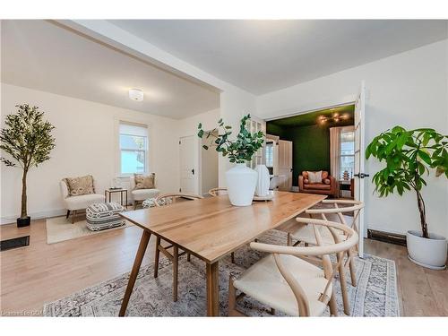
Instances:
[[[159,116],[220,107],[211,88],[188,82],[46,21],[2,21],[2,82]],[[144,100],[128,98],[130,88]]]

